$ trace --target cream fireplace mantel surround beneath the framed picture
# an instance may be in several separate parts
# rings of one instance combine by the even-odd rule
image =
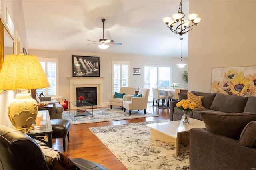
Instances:
[[[70,100],[77,101],[77,87],[97,87],[97,106],[103,105],[104,77],[68,77],[70,87]]]

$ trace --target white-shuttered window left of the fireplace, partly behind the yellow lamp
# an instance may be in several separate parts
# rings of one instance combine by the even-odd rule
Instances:
[[[53,58],[38,58],[46,77],[50,83],[50,87],[44,89],[36,89],[36,94],[44,93],[45,96],[57,96],[58,95],[58,59]]]

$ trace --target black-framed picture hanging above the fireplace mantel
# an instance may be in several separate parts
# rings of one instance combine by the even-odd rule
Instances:
[[[72,55],[73,77],[100,77],[100,57]]]

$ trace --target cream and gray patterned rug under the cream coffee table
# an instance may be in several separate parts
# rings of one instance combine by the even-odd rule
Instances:
[[[169,120],[163,120],[169,121]],[[178,157],[172,142],[151,140],[146,124],[130,123],[89,128],[128,170],[189,170],[189,146],[181,144]]]

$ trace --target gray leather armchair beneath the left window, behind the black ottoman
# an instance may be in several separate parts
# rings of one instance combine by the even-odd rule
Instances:
[[[45,103],[51,103],[53,104],[53,109],[52,109],[52,117],[53,119],[62,119],[62,112],[64,111],[62,105],[58,103],[56,100],[52,100],[51,97],[38,97],[40,102],[45,102]]]

